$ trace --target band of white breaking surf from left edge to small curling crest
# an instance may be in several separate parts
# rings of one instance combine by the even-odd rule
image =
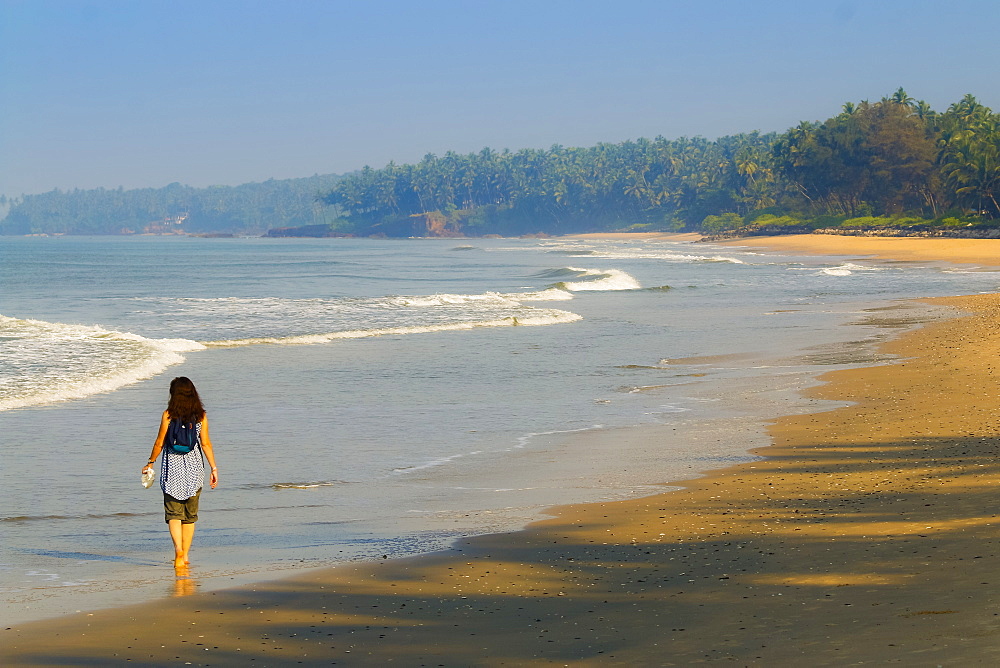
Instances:
[[[99,325],[0,316],[0,411],[113,392],[159,375],[184,361],[185,353],[206,348],[568,324],[581,317],[538,302],[568,301],[587,290],[642,288],[617,269],[562,267],[539,278],[554,284],[536,291],[481,294],[131,298],[130,312],[150,330],[145,336]]]

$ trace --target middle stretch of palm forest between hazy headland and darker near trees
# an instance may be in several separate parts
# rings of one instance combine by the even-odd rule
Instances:
[[[372,230],[456,209],[488,210],[467,217],[468,233],[679,229],[719,209],[773,203],[773,140],[759,133],[715,142],[658,137],[587,149],[427,155],[414,165],[365,168],[340,182],[327,202]]]

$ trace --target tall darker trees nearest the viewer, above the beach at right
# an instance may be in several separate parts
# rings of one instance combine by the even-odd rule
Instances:
[[[1000,116],[971,95],[942,114],[902,89],[845,105],[822,124],[789,130],[774,155],[790,208],[933,219],[958,207],[960,217],[1000,217]]]

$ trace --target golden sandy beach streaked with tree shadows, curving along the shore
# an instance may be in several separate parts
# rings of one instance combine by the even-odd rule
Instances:
[[[1000,264],[986,240],[728,243]],[[764,460],[432,555],[210,593],[181,578],[169,600],[2,629],[0,663],[995,665],[1000,295],[933,301],[955,317],[824,376],[814,396],[852,403],[775,421]]]

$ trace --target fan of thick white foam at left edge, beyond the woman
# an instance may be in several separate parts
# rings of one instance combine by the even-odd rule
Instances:
[[[112,392],[204,348],[186,339],[0,316],[0,411]]]

